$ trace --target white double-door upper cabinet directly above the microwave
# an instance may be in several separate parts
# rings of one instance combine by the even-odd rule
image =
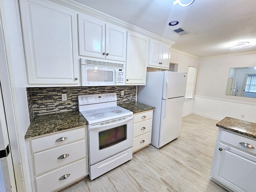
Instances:
[[[126,60],[127,30],[86,14],[78,15],[79,55]]]

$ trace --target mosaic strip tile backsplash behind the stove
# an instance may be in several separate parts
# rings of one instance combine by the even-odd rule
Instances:
[[[122,90],[124,96],[121,96]],[[117,95],[117,104],[136,101],[136,86],[27,88],[30,121],[37,115],[78,110],[78,95],[113,92]],[[62,101],[61,94],[67,94],[67,101]]]

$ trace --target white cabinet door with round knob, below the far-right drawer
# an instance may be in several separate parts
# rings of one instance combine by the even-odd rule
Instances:
[[[238,192],[255,191],[256,157],[222,143],[219,147],[214,178]]]

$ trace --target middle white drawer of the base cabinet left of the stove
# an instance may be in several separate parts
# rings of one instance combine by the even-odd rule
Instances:
[[[58,159],[58,157],[68,154],[66,158]],[[58,168],[59,166],[68,164],[75,160],[85,158],[86,141],[81,140],[71,144],[66,144],[57,148],[34,154],[34,171],[35,175]]]

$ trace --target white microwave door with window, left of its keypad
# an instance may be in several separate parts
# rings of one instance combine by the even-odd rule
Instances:
[[[116,69],[81,65],[82,86],[107,86],[116,84]]]

